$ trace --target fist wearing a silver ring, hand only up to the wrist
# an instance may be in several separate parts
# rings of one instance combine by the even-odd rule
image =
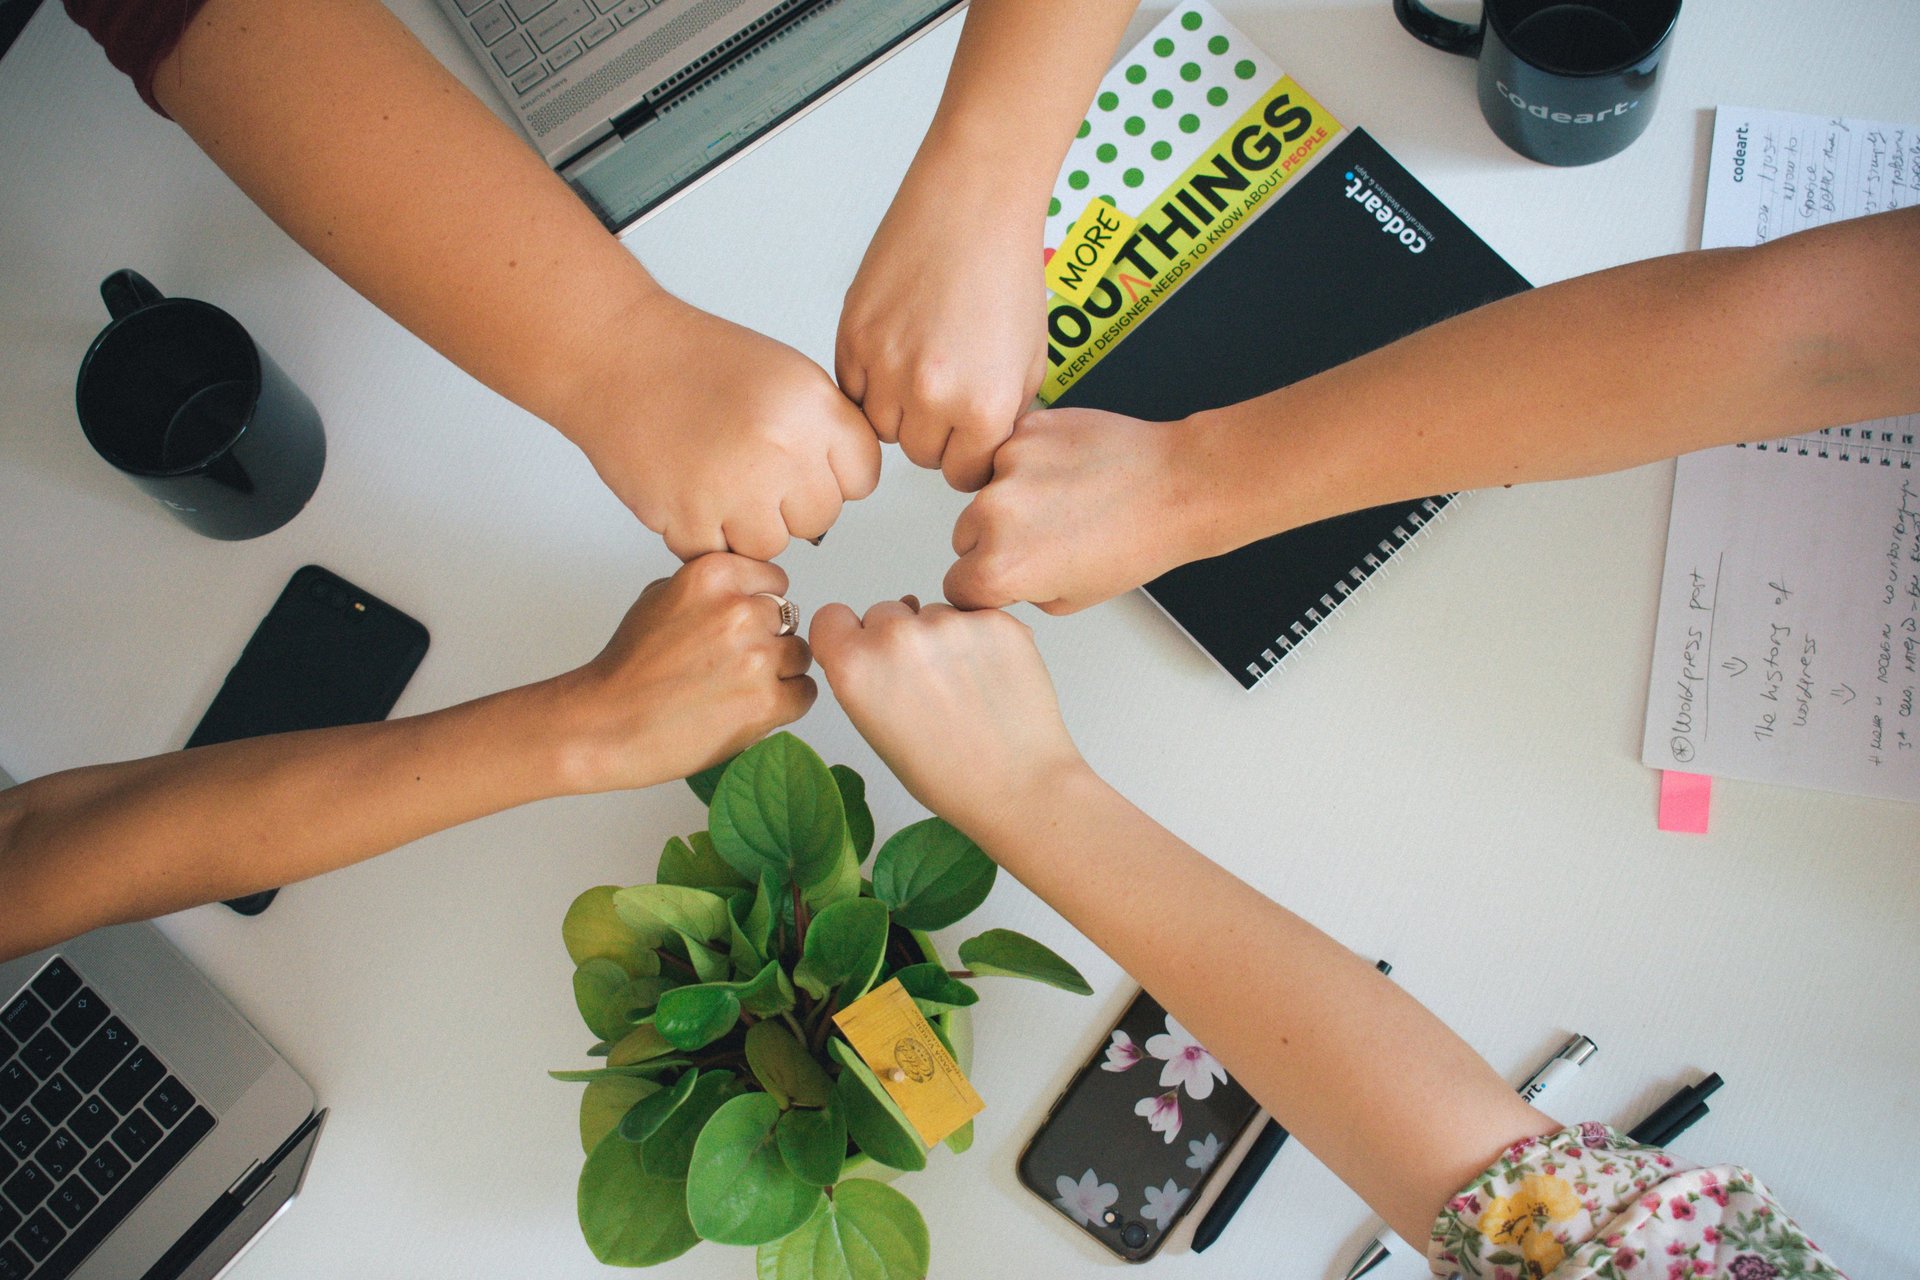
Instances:
[[[787,576],[705,555],[641,591],[597,658],[553,681],[576,791],[687,777],[814,704],[812,654],[778,635]]]

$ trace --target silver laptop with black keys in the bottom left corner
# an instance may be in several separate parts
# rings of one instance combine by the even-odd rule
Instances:
[[[152,925],[0,963],[0,1280],[211,1280],[324,1119]]]

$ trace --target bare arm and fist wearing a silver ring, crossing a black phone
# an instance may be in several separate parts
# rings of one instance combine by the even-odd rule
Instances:
[[[0,791],[0,960],[344,867],[528,800],[685,777],[801,716],[810,656],[707,557],[566,676],[371,725],[67,770]]]

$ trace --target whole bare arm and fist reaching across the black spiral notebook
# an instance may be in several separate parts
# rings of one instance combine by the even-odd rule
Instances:
[[[947,595],[1071,612],[1346,510],[1916,409],[1905,209],[1549,284],[1185,422],[1029,415],[954,526]]]

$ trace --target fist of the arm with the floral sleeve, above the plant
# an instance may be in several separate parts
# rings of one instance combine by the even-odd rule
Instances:
[[[1033,631],[1000,610],[885,601],[814,614],[841,710],[924,806],[975,841],[1060,770],[1081,768]]]

